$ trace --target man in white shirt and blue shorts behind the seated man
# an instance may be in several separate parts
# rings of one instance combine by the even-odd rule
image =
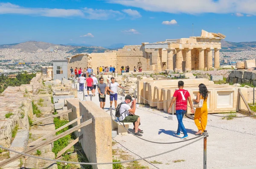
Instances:
[[[104,77],[103,77],[104,78]],[[115,82],[115,78],[111,77],[111,83],[108,85],[108,91],[110,91],[110,108],[112,109],[113,100],[115,101],[115,110],[117,106],[117,87],[124,88]]]

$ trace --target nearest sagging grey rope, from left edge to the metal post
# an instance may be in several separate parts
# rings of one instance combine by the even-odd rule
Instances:
[[[169,153],[169,152],[173,152],[173,151],[175,151],[175,150],[177,150],[177,149],[181,149],[181,148],[183,148],[183,147],[185,147],[185,146],[188,146],[188,145],[190,145],[190,144],[193,144],[193,143],[195,143],[195,142],[197,142],[197,141],[199,141],[199,140],[201,140],[201,139],[203,139],[203,138],[205,138],[205,137],[208,137],[207,134],[205,134],[204,132],[203,132],[203,136],[204,136],[204,137],[201,137],[201,138],[199,138],[199,139],[197,139],[197,140],[195,140],[195,141],[192,141],[192,142],[190,142],[190,143],[188,143],[188,144],[185,144],[185,145],[183,145],[183,146],[180,146],[180,147],[177,147],[177,148],[175,148],[175,149],[171,149],[171,150],[169,150],[169,151],[162,152],[162,153],[159,153],[159,154],[156,154],[156,155],[151,155],[151,156],[144,157],[144,158],[138,158],[138,159],[135,159],[135,160],[117,161],[117,162],[109,162],[109,163],[84,163],[84,162],[73,162],[73,161],[61,161],[61,160],[55,160],[55,159],[43,158],[43,157],[39,157],[39,156],[35,156],[35,155],[30,155],[30,154],[26,154],[26,153],[23,153],[23,152],[18,152],[18,151],[16,151],[16,150],[9,149],[9,148],[4,147],[4,146],[2,146],[2,145],[0,145],[0,148],[5,149],[5,150],[8,150],[8,151],[11,151],[11,152],[15,152],[15,153],[20,154],[20,155],[25,155],[25,156],[28,156],[28,157],[38,158],[38,159],[46,160],[46,161],[54,161],[54,162],[67,163],[67,164],[70,163],[70,164],[82,164],[82,165],[102,165],[102,164],[129,163],[129,162],[133,162],[133,161],[140,161],[140,160],[145,160],[145,159],[147,159],[147,158],[157,157],[157,156],[159,156],[159,155],[163,155],[163,154],[166,154],[166,153]]]

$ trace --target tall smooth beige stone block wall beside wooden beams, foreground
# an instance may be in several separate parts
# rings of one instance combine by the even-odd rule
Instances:
[[[111,116],[92,101],[67,100],[67,105],[68,109],[72,107],[74,110],[69,114],[70,121],[80,115],[83,115],[80,123],[93,119],[92,124],[81,128],[81,146],[88,160],[93,163],[112,162]],[[93,169],[112,169],[112,164],[93,165]]]

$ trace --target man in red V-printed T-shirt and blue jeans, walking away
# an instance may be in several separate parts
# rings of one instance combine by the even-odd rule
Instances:
[[[182,122],[183,116],[186,113],[186,109],[187,109],[187,100],[189,100],[189,104],[191,107],[191,113],[195,113],[194,109],[193,109],[193,104],[190,98],[190,94],[187,90],[183,89],[184,87],[184,82],[183,81],[179,81],[178,82],[178,88],[179,90],[176,90],[173,94],[173,99],[171,101],[171,104],[169,106],[168,109],[168,113],[170,113],[172,104],[174,104],[175,102],[175,110],[176,110],[176,116],[177,116],[177,120],[178,120],[178,129],[177,129],[177,133],[176,135],[180,135],[180,130],[183,132],[184,136],[181,137],[180,139],[185,139],[188,138],[188,134],[186,132],[186,129],[184,127],[184,124]]]

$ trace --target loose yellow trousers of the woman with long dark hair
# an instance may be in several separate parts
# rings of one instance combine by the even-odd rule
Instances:
[[[207,105],[203,105],[202,108],[195,109],[195,125],[198,127],[198,130],[201,130],[202,132],[204,132],[205,127],[207,125],[207,115]]]

